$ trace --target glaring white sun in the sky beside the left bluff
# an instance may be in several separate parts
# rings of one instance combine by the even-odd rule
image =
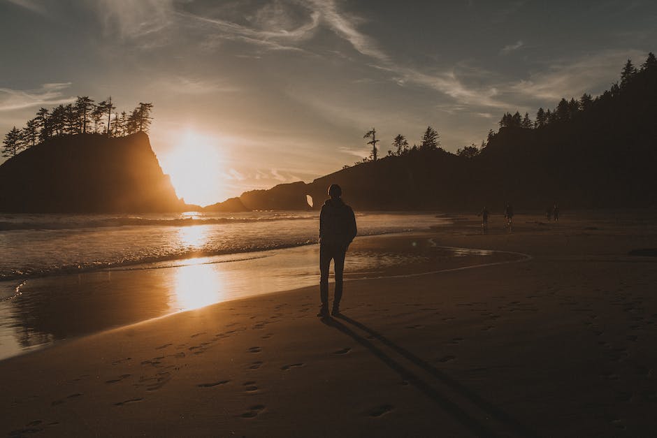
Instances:
[[[217,138],[189,130],[174,144],[160,161],[164,173],[171,176],[175,193],[196,205],[224,200],[224,160]]]

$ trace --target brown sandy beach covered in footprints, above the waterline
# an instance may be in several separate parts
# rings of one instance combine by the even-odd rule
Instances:
[[[341,318],[317,319],[313,287],[4,360],[0,433],[654,436],[657,258],[628,255],[657,247],[654,214],[515,222],[513,233],[492,217],[482,235],[470,217],[427,235],[357,239],[352,251],[431,254],[437,244],[531,258],[354,279]]]

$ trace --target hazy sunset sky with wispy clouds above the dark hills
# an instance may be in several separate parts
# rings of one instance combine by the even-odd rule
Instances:
[[[0,0],[0,135],[75,96],[154,105],[178,196],[207,205],[382,154],[427,126],[600,94],[657,51],[657,2]]]

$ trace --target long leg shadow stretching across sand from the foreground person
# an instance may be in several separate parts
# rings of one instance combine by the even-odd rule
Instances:
[[[437,370],[435,367],[433,367],[433,365],[426,362],[426,360],[415,356],[410,351],[398,346],[397,344],[389,340],[387,337],[384,337],[383,335],[376,332],[375,330],[372,330],[368,326],[365,326],[363,323],[360,323],[359,321],[355,321],[354,319],[351,319],[343,314],[336,316],[336,318],[341,319],[342,321],[345,321],[346,323],[349,323],[352,326],[359,328],[360,330],[363,330],[364,332],[368,333],[370,337],[381,342],[385,346],[389,347],[390,349],[398,353],[406,360],[409,360],[417,367],[421,368],[425,372],[428,372],[428,374],[431,374],[431,376],[433,376],[435,379],[440,381],[441,384],[444,384],[445,386],[452,389],[455,393],[461,395],[461,397],[464,397],[472,404],[475,404],[479,409],[481,409],[484,412],[485,416],[490,416],[492,418],[495,418],[498,422],[505,425],[508,429],[512,430],[515,434],[522,437],[539,436],[537,432],[531,430],[530,428],[528,428],[528,426],[512,418],[509,414],[505,413],[498,407],[491,404],[491,402],[484,400],[477,393],[474,393],[469,388],[466,388],[458,381],[455,381],[454,379],[449,377],[444,372]],[[345,333],[345,335],[351,337],[354,341],[366,347],[366,349],[370,350],[370,352],[373,353],[377,358],[379,358],[385,365],[387,365],[392,370],[400,374],[400,377],[408,381],[409,384],[412,384],[417,389],[421,390],[421,392],[424,393],[424,395],[426,395],[431,400],[433,400],[433,402],[435,402],[440,407],[442,407],[442,409],[445,409],[445,411],[449,412],[449,414],[452,414],[452,416],[454,416],[454,418],[456,418],[457,421],[463,424],[466,428],[470,429],[470,431],[475,433],[475,435],[478,435],[480,437],[481,436],[495,437],[498,435],[496,432],[493,432],[493,430],[489,428],[489,425],[483,424],[481,421],[477,420],[477,418],[473,417],[463,408],[459,407],[458,404],[452,402],[452,400],[449,400],[447,397],[445,397],[445,395],[442,395],[440,392],[438,392],[438,390],[435,390],[433,387],[431,387],[426,381],[422,380],[417,374],[414,374],[414,372],[409,370],[407,367],[404,367],[404,365],[400,364],[397,360],[394,360],[394,358],[391,358],[384,351],[382,351],[382,349],[375,346],[372,342],[368,341],[365,337],[362,337],[358,333],[354,332],[354,330],[352,330],[345,324],[341,323],[337,319],[331,319],[331,318],[322,319],[322,322],[329,327],[333,327],[340,330],[340,332]]]

